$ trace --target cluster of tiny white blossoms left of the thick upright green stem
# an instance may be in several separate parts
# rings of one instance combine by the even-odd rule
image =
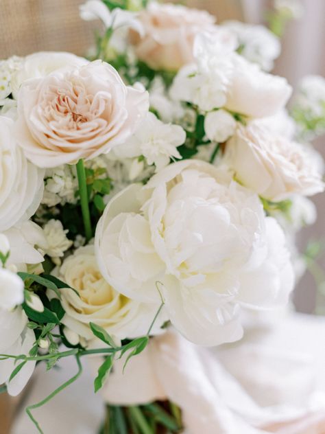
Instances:
[[[77,203],[75,192],[78,190],[77,173],[73,165],[63,164],[57,168],[47,169],[44,179],[42,202],[48,207]]]

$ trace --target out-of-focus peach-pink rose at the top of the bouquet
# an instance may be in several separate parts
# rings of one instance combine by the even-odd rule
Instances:
[[[136,55],[153,69],[177,71],[193,60],[195,36],[213,27],[208,12],[181,5],[149,3],[138,17],[144,36],[130,31]]]

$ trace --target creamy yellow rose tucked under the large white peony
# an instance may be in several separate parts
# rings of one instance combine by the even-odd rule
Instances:
[[[159,303],[139,303],[110,286],[101,276],[91,245],[80,247],[64,260],[58,276],[80,295],[71,289],[62,290],[61,302],[66,312],[62,323],[87,341],[94,339],[90,322],[101,325],[117,339],[143,336],[158,311]],[[159,332],[164,321],[164,315],[160,315],[153,333]]]

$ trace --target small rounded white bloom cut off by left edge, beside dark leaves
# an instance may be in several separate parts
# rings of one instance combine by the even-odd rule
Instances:
[[[23,280],[16,273],[0,267],[0,309],[11,310],[23,301]]]

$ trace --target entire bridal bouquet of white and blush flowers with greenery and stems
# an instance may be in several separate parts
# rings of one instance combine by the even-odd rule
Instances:
[[[146,0],[80,14],[105,27],[88,59],[0,62],[0,384],[15,396],[37,363],[77,369],[27,407],[40,433],[32,410],[86,356],[95,391],[112,371],[128,396],[123,372],[155,339],[237,341],[243,312],[287,304],[306,196],[324,190],[307,140],[325,130],[325,82],[286,111],[272,32]],[[109,432],[180,431],[168,398],[111,405]]]

